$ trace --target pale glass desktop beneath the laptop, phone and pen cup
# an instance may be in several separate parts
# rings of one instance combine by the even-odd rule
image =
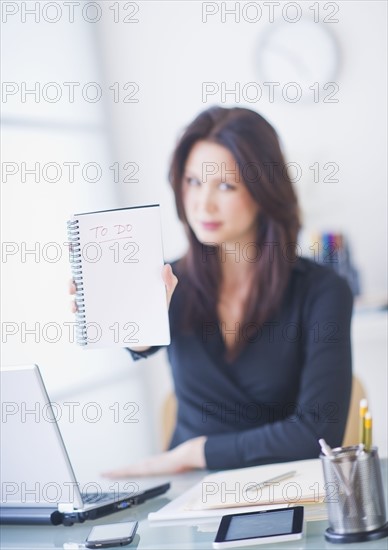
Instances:
[[[388,459],[381,460],[384,486],[387,487],[387,463]],[[207,523],[161,525],[149,523],[147,516],[149,512],[156,512],[171,499],[182,494],[183,491],[199,482],[203,472],[189,472],[186,474],[171,476],[171,489],[167,496],[152,499],[144,504],[107,516],[99,521],[89,521],[82,525],[72,527],[51,527],[51,526],[3,526],[1,528],[0,547],[2,550],[44,550],[49,548],[63,548],[64,544],[82,543],[85,541],[93,525],[125,521],[135,519],[139,522],[139,528],[134,541],[128,550],[209,550],[217,530],[218,522],[209,520]],[[154,480],[155,481],[155,480]],[[387,491],[386,491],[387,499]],[[243,511],[243,510],[242,510]],[[245,511],[245,510],[244,510]],[[343,550],[387,550],[388,538],[359,544],[330,544],[325,541],[324,531],[328,526],[326,521],[307,523],[306,537],[300,541],[286,542],[283,544],[262,544],[257,548],[276,550],[284,548],[289,550],[322,550],[339,549]],[[66,546],[65,546],[66,548]],[[249,547],[248,547],[249,548]],[[252,547],[255,548],[255,547]]]

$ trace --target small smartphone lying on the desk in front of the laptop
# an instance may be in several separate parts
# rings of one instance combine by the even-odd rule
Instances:
[[[86,548],[109,548],[130,544],[135,536],[137,525],[137,521],[96,525],[90,531],[85,546]]]

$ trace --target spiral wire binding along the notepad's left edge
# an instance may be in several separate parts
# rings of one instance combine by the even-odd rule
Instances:
[[[82,254],[81,242],[79,236],[78,220],[69,220],[67,222],[67,236],[69,240],[70,263],[73,280],[76,286],[75,303],[77,304],[77,312],[75,314],[76,340],[80,346],[87,345],[86,332],[86,315],[85,315],[85,298],[84,298],[84,282],[82,277]]]

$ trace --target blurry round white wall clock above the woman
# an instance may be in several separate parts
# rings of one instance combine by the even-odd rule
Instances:
[[[296,82],[307,90],[338,75],[337,41],[327,24],[313,20],[270,27],[260,39],[256,59],[263,82]]]

